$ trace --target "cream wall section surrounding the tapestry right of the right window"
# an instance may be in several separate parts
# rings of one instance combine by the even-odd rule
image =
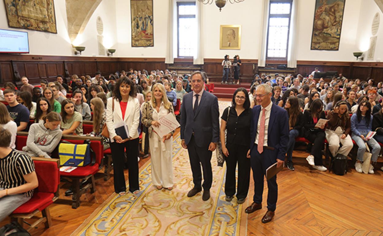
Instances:
[[[352,52],[357,50],[356,36],[361,3],[366,0],[348,0],[345,2],[342,32],[338,51],[310,50],[313,33],[315,0],[300,0],[299,6],[299,40],[297,60],[353,61]],[[368,0],[370,1],[370,0]],[[363,12],[363,14],[366,14]],[[367,13],[368,14],[368,13]]]

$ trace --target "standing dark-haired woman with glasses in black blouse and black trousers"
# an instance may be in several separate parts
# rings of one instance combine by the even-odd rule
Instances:
[[[233,95],[231,107],[221,117],[220,138],[222,151],[226,156],[226,201],[236,193],[236,166],[238,163],[237,203],[242,204],[249,191],[250,159],[246,157],[250,148],[251,109],[249,94],[245,88],[238,88]],[[228,115],[229,113],[229,115]],[[225,145],[225,130],[227,140]]]

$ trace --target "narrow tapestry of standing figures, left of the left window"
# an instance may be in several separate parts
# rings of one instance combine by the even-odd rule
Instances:
[[[132,47],[154,47],[153,0],[131,0]]]

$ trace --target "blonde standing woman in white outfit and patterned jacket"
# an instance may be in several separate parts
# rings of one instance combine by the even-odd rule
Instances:
[[[159,137],[153,126],[159,127],[158,120],[167,114],[174,116],[173,106],[166,96],[165,87],[160,83],[152,86],[152,99],[143,104],[142,124],[149,129],[149,148],[152,161],[152,182],[157,189],[173,189],[172,143],[173,132]]]

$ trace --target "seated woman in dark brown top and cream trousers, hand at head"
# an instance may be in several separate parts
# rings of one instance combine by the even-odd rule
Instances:
[[[349,155],[353,147],[350,137],[351,121],[346,101],[338,101],[333,110],[327,113],[326,139],[332,156]],[[342,146],[340,147],[340,144]],[[340,147],[340,148],[339,148]]]

